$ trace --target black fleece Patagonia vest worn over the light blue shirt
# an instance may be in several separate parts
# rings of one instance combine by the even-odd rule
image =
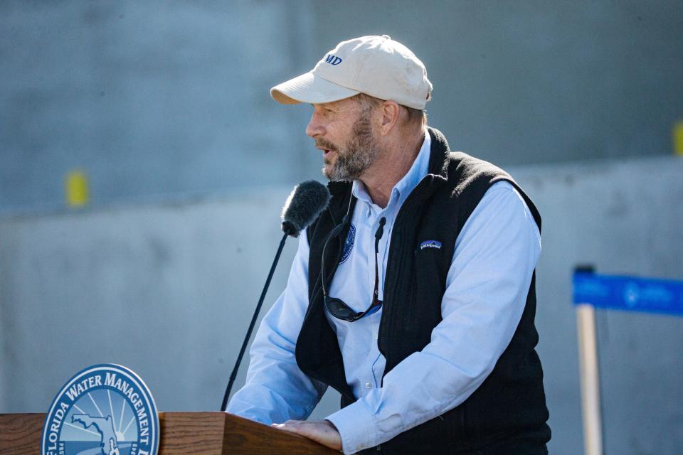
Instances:
[[[501,169],[448,149],[443,134],[429,129],[432,139],[429,173],[401,206],[391,235],[384,304],[378,348],[386,358],[384,374],[411,353],[422,350],[441,321],[441,299],[452,261],[455,240],[487,189],[508,181],[526,200],[541,228],[538,210],[524,191]],[[297,340],[301,370],[342,394],[342,407],[356,400],[346,383],[337,336],[324,314],[320,269],[322,260],[331,279],[337,269],[342,240],[322,246],[328,233],[341,222],[351,198],[351,183],[329,183],[332,201],[307,230],[309,255],[309,306]],[[354,205],[356,202],[351,200]],[[351,208],[353,210],[353,208]],[[425,240],[442,247],[420,249]],[[399,434],[368,450],[384,454],[545,454],[550,439],[543,372],[534,347],[538,333],[535,272],[526,306],[512,341],[492,373],[465,402],[455,409]]]

